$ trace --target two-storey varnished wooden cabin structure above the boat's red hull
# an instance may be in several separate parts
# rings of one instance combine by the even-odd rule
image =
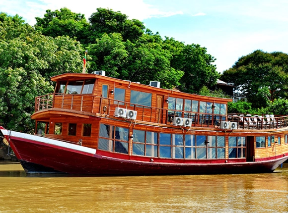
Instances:
[[[287,116],[227,115],[231,99],[213,98],[98,74],[66,73],[53,94],[35,99],[45,137],[119,159],[253,162],[288,154]],[[256,118],[256,119],[254,119]]]

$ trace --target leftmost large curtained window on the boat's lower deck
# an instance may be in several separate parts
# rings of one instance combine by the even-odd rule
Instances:
[[[128,154],[128,136],[129,129],[127,128],[101,123],[98,149]]]

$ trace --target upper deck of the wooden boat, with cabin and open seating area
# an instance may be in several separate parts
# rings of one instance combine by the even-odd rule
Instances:
[[[287,127],[288,123],[287,116],[227,115],[230,99],[187,94],[97,74],[66,73],[51,79],[57,82],[55,91],[35,98],[34,119],[47,109],[122,117],[118,113],[122,108],[137,112],[136,117],[127,119],[152,125],[263,130]],[[187,119],[189,123],[185,124]]]

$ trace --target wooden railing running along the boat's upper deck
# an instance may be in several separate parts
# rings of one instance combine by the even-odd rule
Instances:
[[[143,106],[100,96],[52,93],[35,98],[35,112],[48,108],[62,108],[90,113],[115,115],[115,108],[137,111],[137,120],[172,124],[174,117],[192,119],[192,126],[220,128],[221,121],[235,122],[236,129],[274,129],[287,127],[288,116],[261,117],[237,114],[218,115]]]

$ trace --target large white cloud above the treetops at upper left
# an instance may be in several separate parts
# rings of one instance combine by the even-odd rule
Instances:
[[[144,3],[144,0],[1,0],[0,10],[9,15],[19,14],[30,25],[36,23],[35,17],[43,17],[47,9],[52,11],[62,7],[67,7],[72,12],[82,13],[86,19],[93,12],[97,12],[97,8],[109,8],[114,11],[120,11],[129,16],[129,19],[144,19],[151,17],[168,17],[176,14],[183,14],[182,11],[163,11],[153,5]]]

